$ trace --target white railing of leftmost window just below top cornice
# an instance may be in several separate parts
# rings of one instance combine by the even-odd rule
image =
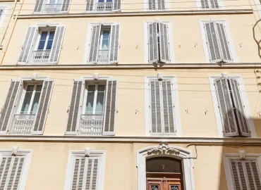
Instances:
[[[50,50],[32,51],[31,59],[29,61],[32,65],[44,65],[49,63]]]

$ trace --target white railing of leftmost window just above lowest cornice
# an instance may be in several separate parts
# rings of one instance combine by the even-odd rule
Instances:
[[[15,114],[10,134],[31,134],[35,124],[35,114]]]

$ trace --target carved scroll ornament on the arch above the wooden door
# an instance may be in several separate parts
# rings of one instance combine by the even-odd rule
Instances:
[[[159,143],[157,148],[153,148],[150,151],[147,151],[148,155],[161,155],[161,154],[168,154],[168,155],[179,155],[180,151],[176,148],[170,148],[167,142]]]

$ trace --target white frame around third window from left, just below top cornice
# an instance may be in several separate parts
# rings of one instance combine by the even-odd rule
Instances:
[[[172,32],[172,23],[171,21],[168,20],[160,20],[161,23],[168,25],[168,36],[169,36],[169,58],[171,60],[171,63],[175,63],[175,56],[174,56],[174,40],[173,40],[173,32]],[[149,63],[148,59],[149,59],[149,47],[148,47],[148,35],[147,35],[147,26],[155,23],[155,20],[152,21],[145,21],[144,22],[144,63]],[[164,64],[168,64],[168,63],[164,63]]]

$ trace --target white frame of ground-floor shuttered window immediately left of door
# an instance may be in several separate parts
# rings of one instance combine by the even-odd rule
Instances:
[[[73,179],[73,164],[74,164],[75,157],[85,157],[85,152],[84,151],[69,151],[64,190],[71,190],[71,184],[72,184],[72,179]],[[92,158],[92,157],[99,158],[97,190],[103,190],[104,189],[104,172],[105,172],[105,162],[106,162],[106,151],[90,151],[89,158]]]

